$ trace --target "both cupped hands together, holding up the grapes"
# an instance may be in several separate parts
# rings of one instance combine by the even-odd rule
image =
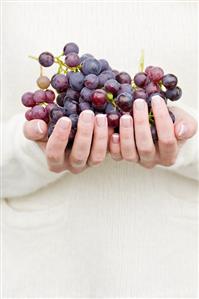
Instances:
[[[71,121],[62,117],[47,140],[47,125],[42,120],[28,121],[24,125],[26,138],[36,141],[46,155],[49,170],[69,170],[80,173],[88,166],[98,165],[105,159],[107,150],[114,160],[127,160],[146,168],[155,165],[170,166],[175,163],[182,144],[197,131],[197,122],[180,108],[170,109],[176,118],[172,123],[168,108],[159,96],[152,99],[152,110],[158,132],[158,144],[154,145],[147,104],[142,99],[134,102],[133,118],[120,118],[120,133],[108,128],[106,115],[83,111],[71,150],[65,151],[71,129]]]

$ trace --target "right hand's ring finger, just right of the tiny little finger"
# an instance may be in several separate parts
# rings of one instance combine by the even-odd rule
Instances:
[[[123,159],[137,162],[138,155],[134,141],[133,119],[130,115],[120,118],[120,146]]]

